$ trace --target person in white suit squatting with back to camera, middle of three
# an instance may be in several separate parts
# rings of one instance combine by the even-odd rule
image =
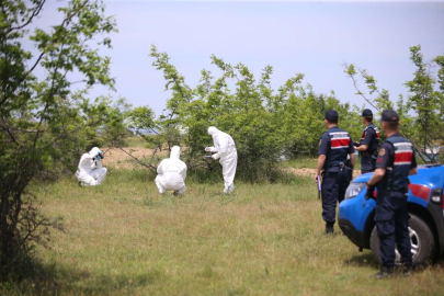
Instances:
[[[174,195],[184,194],[186,191],[186,164],[179,159],[181,148],[173,146],[170,158],[163,159],[157,167],[156,185],[160,194],[168,190],[174,191]]]

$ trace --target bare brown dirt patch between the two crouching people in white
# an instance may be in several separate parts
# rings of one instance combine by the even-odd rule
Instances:
[[[127,153],[134,156],[135,158],[139,159],[143,162],[149,163],[155,149],[148,149],[144,147],[124,147],[123,148]],[[105,152],[105,157],[103,159],[103,164],[112,166],[115,168],[127,168],[130,169],[137,164],[136,160],[134,160],[130,156],[125,153],[118,148],[112,147],[109,149],[107,147],[102,147],[102,151]],[[161,152],[157,152],[156,156],[160,158],[168,157],[169,151],[164,150]]]

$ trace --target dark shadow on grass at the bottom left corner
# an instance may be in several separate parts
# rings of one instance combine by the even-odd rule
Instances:
[[[68,266],[33,263],[25,274],[0,283],[0,295],[110,295],[132,294],[140,286],[167,277],[160,270],[147,270],[137,275],[98,275]]]

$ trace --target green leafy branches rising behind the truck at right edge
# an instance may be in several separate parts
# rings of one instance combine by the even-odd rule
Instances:
[[[358,95],[362,95],[368,104],[382,112],[384,109],[396,110],[400,117],[401,132],[409,138],[425,162],[435,162],[435,153],[425,157],[426,149],[443,146],[444,138],[444,56],[437,56],[432,62],[425,62],[421,54],[421,46],[410,47],[410,60],[415,66],[413,79],[407,81],[408,96],[401,94],[395,106],[390,100],[388,90],[380,90],[376,86],[376,79],[366,70],[356,70],[353,64],[344,65],[344,72],[352,78]],[[437,65],[437,81],[433,78],[432,67]],[[358,89],[357,76],[364,79],[369,94],[376,93],[371,99]],[[436,86],[437,84],[437,86]],[[439,87],[439,88],[436,88]]]

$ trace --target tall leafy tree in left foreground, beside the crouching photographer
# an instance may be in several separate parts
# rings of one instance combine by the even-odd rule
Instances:
[[[20,275],[33,242],[41,241],[50,223],[38,214],[27,191],[36,177],[53,175],[60,164],[122,130],[123,101],[86,99],[96,84],[113,87],[110,58],[101,57],[93,39],[111,46],[107,33],[114,19],[104,15],[99,1],[72,0],[59,8],[64,15],[49,30],[29,27],[39,16],[45,0],[0,2],[0,275]],[[37,56],[22,47],[34,43]],[[39,68],[46,76],[33,75]],[[78,91],[69,73],[82,76]]]

